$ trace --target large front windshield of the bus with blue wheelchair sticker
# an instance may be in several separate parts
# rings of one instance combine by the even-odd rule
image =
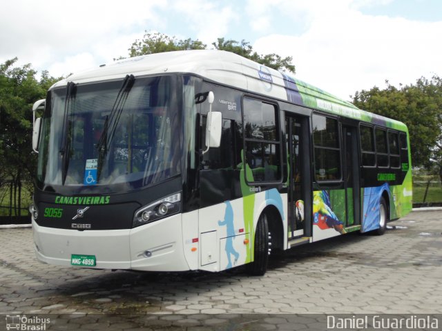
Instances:
[[[37,185],[69,194],[136,190],[180,173],[171,77],[69,85],[49,92]]]

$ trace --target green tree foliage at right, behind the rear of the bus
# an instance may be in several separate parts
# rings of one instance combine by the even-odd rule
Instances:
[[[412,164],[438,168],[442,177],[442,79],[421,77],[415,84],[356,92],[362,109],[404,122],[410,131]]]

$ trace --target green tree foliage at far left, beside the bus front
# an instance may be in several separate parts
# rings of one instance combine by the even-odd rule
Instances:
[[[44,71],[38,81],[30,64],[18,67],[16,62],[17,58],[0,64],[0,187],[6,181],[13,183],[15,200],[20,201],[21,183],[32,182],[36,165],[32,104],[44,98],[58,79]]]

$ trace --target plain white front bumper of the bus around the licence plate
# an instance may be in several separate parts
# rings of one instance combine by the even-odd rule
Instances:
[[[32,219],[39,261],[71,265],[73,255],[96,259],[96,269],[185,271],[181,214],[133,229],[66,230],[39,226]]]

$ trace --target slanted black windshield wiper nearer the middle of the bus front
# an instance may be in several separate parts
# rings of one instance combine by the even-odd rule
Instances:
[[[113,107],[111,109],[111,113],[106,117],[106,121],[104,122],[104,128],[102,135],[99,137],[99,141],[97,143],[98,150],[98,161],[97,161],[97,180],[100,177],[102,172],[103,160],[108,154],[109,148],[111,148],[111,143],[115,131],[117,130],[119,117],[121,117],[124,103],[126,103],[127,97],[133,84],[135,83],[135,77],[133,74],[126,75],[124,78],[122,87],[119,89],[117,98],[113,103]]]

